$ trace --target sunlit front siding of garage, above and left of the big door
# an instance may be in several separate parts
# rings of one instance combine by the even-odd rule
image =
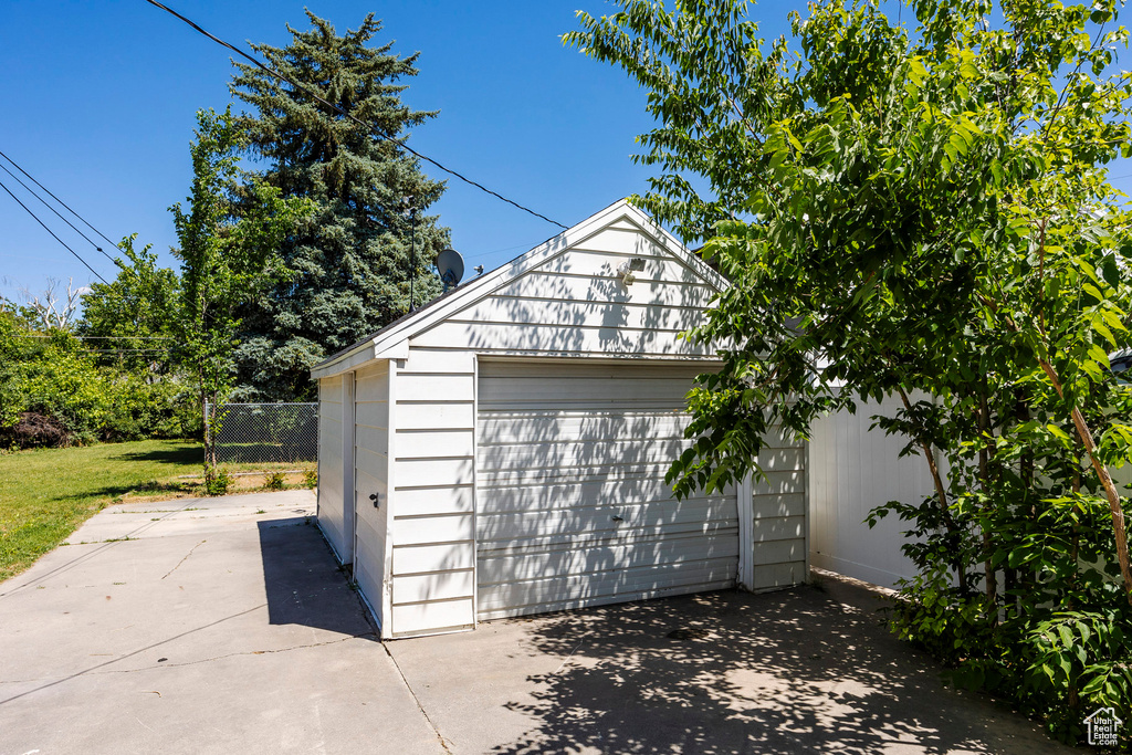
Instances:
[[[475,354],[703,357],[678,340],[714,295],[628,221],[410,340],[393,376],[394,636],[475,623]],[[645,260],[636,282],[617,267]]]

